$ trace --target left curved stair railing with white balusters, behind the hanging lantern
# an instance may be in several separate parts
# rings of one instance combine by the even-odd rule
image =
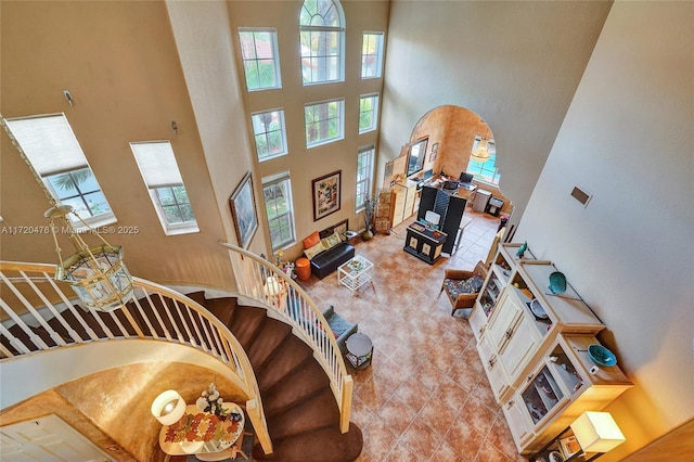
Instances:
[[[140,278],[133,278],[136,295],[127,306],[108,312],[86,310],[73,305],[74,292],[56,282],[54,273],[54,265],[0,261],[0,365],[44,350],[111,339],[191,346],[230,369],[248,397],[246,413],[258,441],[266,453],[272,452],[250,361],[214,315],[193,299]]]

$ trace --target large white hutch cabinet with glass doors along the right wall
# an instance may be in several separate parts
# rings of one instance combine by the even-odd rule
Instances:
[[[586,410],[601,410],[632,386],[618,367],[586,350],[605,325],[568,284],[549,290],[551,261],[502,244],[480,290],[471,328],[485,373],[520,453],[540,449]]]

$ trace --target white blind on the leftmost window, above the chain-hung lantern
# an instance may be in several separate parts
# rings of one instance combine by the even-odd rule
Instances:
[[[7,119],[7,123],[41,177],[88,166],[65,114]]]

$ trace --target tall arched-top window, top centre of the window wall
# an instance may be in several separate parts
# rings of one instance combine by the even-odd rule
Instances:
[[[304,85],[344,80],[345,22],[337,0],[306,0],[299,14]]]

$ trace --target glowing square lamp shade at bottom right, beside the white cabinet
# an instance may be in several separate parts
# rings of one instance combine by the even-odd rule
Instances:
[[[609,412],[583,412],[571,431],[584,452],[607,452],[627,439]]]

